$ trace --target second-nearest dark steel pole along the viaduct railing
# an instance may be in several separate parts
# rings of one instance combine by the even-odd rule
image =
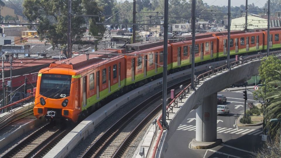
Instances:
[[[192,61],[191,61],[191,88],[195,90],[194,86],[194,65],[195,65],[195,59],[194,59],[194,47],[195,47],[195,7],[196,7],[196,0],[192,0]],[[190,58],[190,56],[189,56]]]

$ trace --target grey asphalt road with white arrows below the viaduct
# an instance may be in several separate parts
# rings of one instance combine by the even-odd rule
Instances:
[[[236,119],[239,117],[237,114],[244,113],[243,91],[218,93],[227,97],[225,105],[230,110],[227,115],[217,115],[217,138],[222,139],[221,145],[208,150],[190,149],[190,142],[195,138],[196,132],[196,110],[193,110],[168,141],[168,149],[163,157],[253,157],[253,154],[262,147],[261,134],[263,131],[262,126],[238,127],[236,125]],[[247,103],[255,104],[252,93],[247,91],[247,95]]]

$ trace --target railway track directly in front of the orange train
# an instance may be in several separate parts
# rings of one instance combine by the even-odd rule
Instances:
[[[2,157],[43,157],[71,129],[48,123],[23,139]]]

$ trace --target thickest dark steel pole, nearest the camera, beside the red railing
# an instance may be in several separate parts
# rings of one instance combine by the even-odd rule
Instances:
[[[166,106],[167,106],[167,53],[168,53],[168,4],[169,0],[164,2],[164,52],[163,52],[163,93],[162,93],[162,126],[166,123]]]

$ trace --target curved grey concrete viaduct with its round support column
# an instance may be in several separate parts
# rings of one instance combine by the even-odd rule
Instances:
[[[281,59],[280,55],[277,55],[277,57]],[[190,92],[183,106],[174,114],[172,120],[169,122],[169,128],[166,131],[160,155],[164,155],[168,147],[168,140],[192,109],[196,109],[196,139],[192,142],[195,144],[193,148],[196,148],[196,143],[198,142],[201,142],[201,144],[202,142],[216,142],[217,92],[224,90],[229,85],[239,81],[249,80],[251,76],[257,75],[260,64],[261,60],[259,59],[247,61],[241,65],[234,66],[231,70],[225,70],[201,80],[196,86],[196,90]]]

